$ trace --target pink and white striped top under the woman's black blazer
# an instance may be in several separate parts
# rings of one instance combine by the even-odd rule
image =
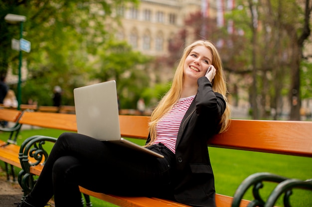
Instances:
[[[181,121],[194,100],[195,95],[180,98],[176,104],[168,111],[156,124],[156,139],[154,144],[162,143],[175,153],[175,143]]]

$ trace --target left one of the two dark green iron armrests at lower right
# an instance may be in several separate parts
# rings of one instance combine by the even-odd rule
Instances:
[[[267,172],[261,172],[261,173],[255,173],[250,176],[248,176],[237,188],[235,191],[235,194],[233,196],[233,202],[232,207],[239,207],[241,200],[243,199],[243,196],[247,192],[247,190],[253,186],[253,197],[254,200],[251,201],[250,207],[256,207],[256,206],[264,206],[265,201],[261,198],[261,195],[259,193],[259,190],[263,188],[263,182],[275,182],[275,183],[281,183],[288,178],[275,175],[272,173]]]

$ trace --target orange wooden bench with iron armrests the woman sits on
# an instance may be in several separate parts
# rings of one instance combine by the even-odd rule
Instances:
[[[149,119],[149,117],[145,116],[120,115],[122,136],[129,138],[147,138]],[[72,114],[24,112],[19,123],[73,132],[77,130],[75,115]],[[312,157],[311,137],[312,122],[232,120],[229,130],[210,139],[207,145],[212,147]],[[38,142],[41,142],[40,146],[42,146],[43,141],[55,142],[56,138],[34,136],[25,140],[20,147],[19,159],[23,173],[20,173],[18,181],[26,194],[31,190],[31,185],[34,185],[33,175],[40,175],[41,173],[42,164],[39,163],[44,162],[45,156],[48,155],[48,152],[39,150],[37,152],[41,152],[45,156],[41,156],[36,163],[34,161],[29,163],[29,157],[31,157],[29,156],[29,150],[34,149],[36,147],[35,145],[38,145]],[[244,181],[239,186],[234,195],[234,199],[233,197],[217,194],[217,207],[230,207],[232,202],[234,206],[247,207],[250,201],[241,200],[246,189],[251,186],[257,186],[259,182],[261,183],[266,180],[272,180],[277,183],[289,181],[289,179],[278,175],[262,173],[251,175],[251,177],[247,178],[247,182]],[[306,187],[307,185],[312,186],[310,182],[301,182],[303,185],[294,187],[301,188],[305,186],[307,189],[310,188]],[[122,207],[186,207],[185,205],[157,198],[118,197],[92,192],[84,188],[80,188],[80,190],[84,194]],[[257,199],[258,198],[255,198],[256,201],[259,200]]]

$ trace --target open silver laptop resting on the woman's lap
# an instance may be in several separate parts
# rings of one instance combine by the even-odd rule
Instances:
[[[115,80],[75,88],[74,100],[79,134],[102,141],[113,141],[163,158],[161,154],[121,138]]]

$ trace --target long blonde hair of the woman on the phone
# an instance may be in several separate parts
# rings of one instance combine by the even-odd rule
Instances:
[[[214,76],[214,79],[212,81],[213,82],[212,89],[214,92],[218,92],[222,94],[224,100],[227,103],[225,112],[223,113],[221,117],[221,121],[219,123],[219,128],[220,128],[219,133],[222,133],[227,130],[230,124],[230,107],[228,105],[227,98],[226,98],[227,88],[226,88],[225,75],[223,71],[221,58],[216,47],[213,45],[212,42],[207,41],[207,40],[198,40],[184,49],[179,65],[177,66],[175,70],[171,88],[159,101],[158,105],[156,106],[155,110],[153,111],[151,115],[151,121],[150,121],[151,141],[147,145],[152,144],[153,141],[156,139],[156,124],[158,120],[165,113],[167,113],[180,98],[181,92],[182,92],[183,81],[184,81],[184,78],[183,78],[184,62],[185,62],[186,57],[189,55],[189,53],[197,46],[205,46],[212,53],[211,65],[213,65],[215,69],[217,70],[216,75]]]

